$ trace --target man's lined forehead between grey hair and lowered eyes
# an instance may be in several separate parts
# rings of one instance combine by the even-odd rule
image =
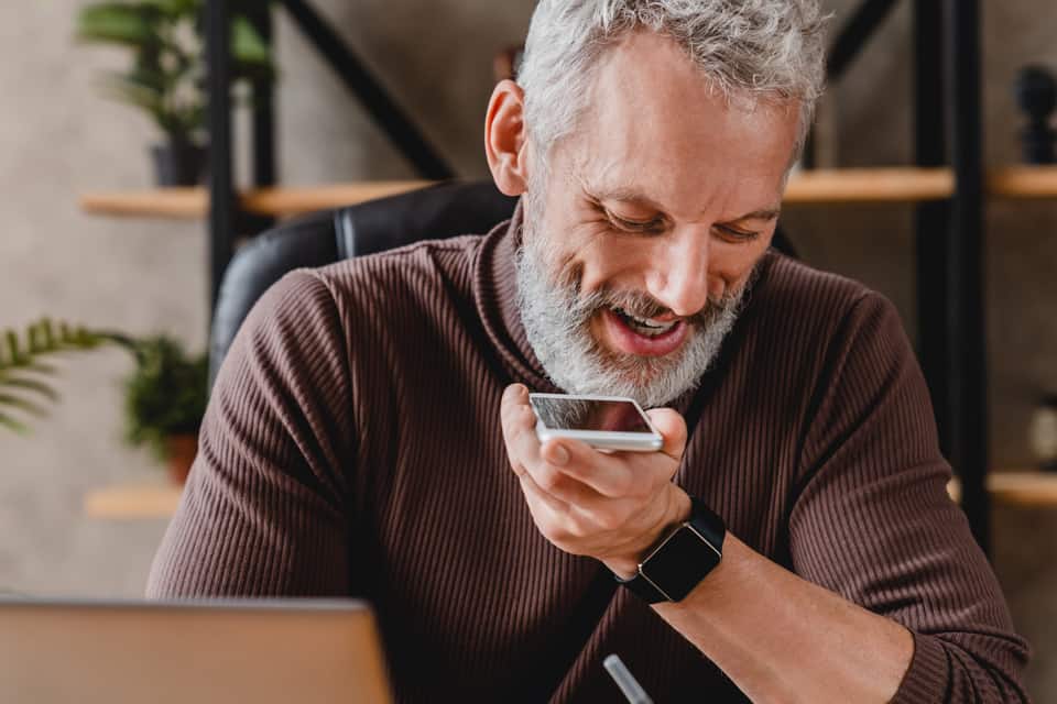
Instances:
[[[601,59],[567,151],[589,189],[720,218],[778,204],[797,121],[795,103],[729,99],[673,41],[636,32]]]

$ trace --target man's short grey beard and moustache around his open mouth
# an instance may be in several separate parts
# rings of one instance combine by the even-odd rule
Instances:
[[[640,292],[602,288],[584,294],[579,272],[552,273],[546,238],[530,224],[536,213],[527,206],[516,262],[517,308],[528,344],[551,381],[569,394],[625,396],[643,408],[664,406],[697,388],[733,328],[749,285],[709,299],[704,310],[686,318],[687,339],[671,354],[613,352],[590,330],[591,320],[607,308],[638,318],[656,318],[668,309]]]

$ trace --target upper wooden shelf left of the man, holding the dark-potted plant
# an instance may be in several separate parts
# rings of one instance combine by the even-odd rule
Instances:
[[[309,188],[261,188],[242,195],[246,212],[288,217],[351,206],[394,196],[432,182],[372,182]],[[80,198],[80,209],[95,216],[121,218],[203,219],[208,215],[209,194],[205,188],[159,188],[139,193],[95,193]]]

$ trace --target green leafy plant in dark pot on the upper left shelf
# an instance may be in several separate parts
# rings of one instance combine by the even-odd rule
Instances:
[[[80,41],[121,46],[132,54],[131,67],[108,75],[103,87],[112,98],[144,110],[164,135],[151,150],[161,186],[198,184],[205,170],[206,68],[198,31],[204,4],[205,0],[96,2],[77,18]],[[268,43],[238,13],[231,24],[231,58],[235,80],[272,78]]]

